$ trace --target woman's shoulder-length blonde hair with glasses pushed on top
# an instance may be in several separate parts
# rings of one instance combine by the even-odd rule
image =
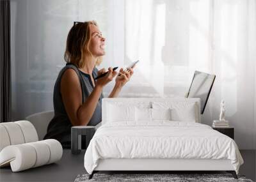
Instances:
[[[64,59],[67,63],[75,64],[78,68],[84,66],[83,58],[85,56],[92,56],[89,48],[92,39],[90,25],[98,26],[95,21],[78,22],[68,32]],[[97,59],[96,65],[99,66],[101,62],[102,56]]]

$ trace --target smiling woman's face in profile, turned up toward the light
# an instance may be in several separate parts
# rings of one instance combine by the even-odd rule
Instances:
[[[91,42],[90,42],[90,51],[92,55],[95,57],[104,56],[105,50],[105,38],[102,37],[99,28],[95,25],[90,25],[90,32],[91,32]]]

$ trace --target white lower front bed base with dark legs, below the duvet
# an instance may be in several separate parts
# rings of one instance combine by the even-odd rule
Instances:
[[[126,159],[126,158],[109,158],[99,160],[95,170],[90,174],[89,179],[92,179],[93,174],[97,172],[124,172],[124,173],[169,173],[180,172],[186,173],[189,171],[195,172],[215,172],[226,171],[231,173],[237,179],[236,171],[231,165],[230,160],[211,160],[211,159]]]

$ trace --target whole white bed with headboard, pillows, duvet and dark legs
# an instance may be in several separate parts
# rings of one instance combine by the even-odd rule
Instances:
[[[236,178],[242,163],[234,140],[200,124],[200,100],[195,98],[104,99],[102,126],[84,155],[84,167],[92,175],[231,171]]]

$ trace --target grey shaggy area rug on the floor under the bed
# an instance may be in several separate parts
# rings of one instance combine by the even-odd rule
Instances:
[[[251,179],[246,179],[244,176],[239,176],[239,179],[234,179],[232,174],[94,174],[92,179],[88,179],[89,174],[78,175],[75,182],[85,181],[243,181],[253,182]]]

